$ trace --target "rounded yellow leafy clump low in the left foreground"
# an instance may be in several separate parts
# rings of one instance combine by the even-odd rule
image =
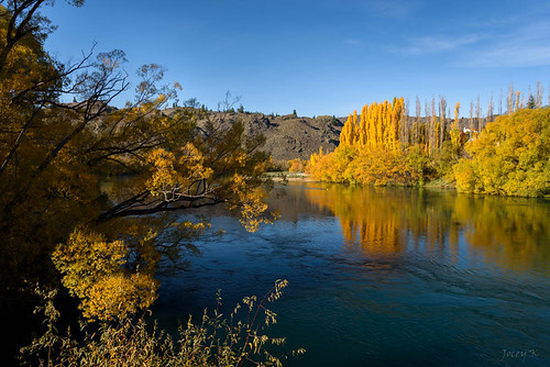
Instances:
[[[99,233],[77,229],[52,258],[63,285],[80,298],[84,315],[110,320],[147,308],[156,298],[157,282],[148,274],[125,271],[127,256],[123,241],[108,242]]]

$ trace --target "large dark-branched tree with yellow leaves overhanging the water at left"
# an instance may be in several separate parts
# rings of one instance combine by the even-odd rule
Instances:
[[[246,137],[240,123],[199,126],[207,116],[193,108],[163,113],[179,86],[163,86],[154,64],[140,68],[134,100],[111,108],[130,86],[123,52],[61,64],[43,47],[51,27],[38,10],[52,2],[2,3],[2,293],[62,279],[86,315],[121,316],[154,300],[158,262],[177,262],[208,225],[176,213],[224,203],[250,231],[270,221],[262,136]],[[107,197],[112,175],[127,179]]]

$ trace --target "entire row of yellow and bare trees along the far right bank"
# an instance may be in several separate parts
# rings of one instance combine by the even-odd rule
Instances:
[[[425,103],[424,118],[418,98],[416,118],[405,113],[403,98],[365,104],[360,115],[354,111],[348,118],[336,151],[312,154],[307,169],[331,182],[417,186],[442,178],[464,192],[546,196],[550,116],[549,108],[540,108],[542,94],[539,82],[536,96],[529,92],[521,101],[510,86],[507,114],[495,122],[493,98],[484,119],[477,97],[475,110],[470,104],[469,127],[461,127],[460,103],[449,119],[443,97],[438,104],[436,99]]]

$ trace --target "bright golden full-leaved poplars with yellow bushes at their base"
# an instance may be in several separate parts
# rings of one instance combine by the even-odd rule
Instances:
[[[365,104],[358,119],[350,114],[333,153],[312,154],[310,175],[321,181],[410,185],[424,181],[422,149],[399,141],[405,114],[403,98]],[[419,165],[420,164],[420,165]]]

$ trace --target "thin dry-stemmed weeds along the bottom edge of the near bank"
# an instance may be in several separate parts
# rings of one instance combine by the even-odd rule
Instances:
[[[289,356],[304,354],[305,349],[275,356],[270,346],[285,343],[284,337],[271,337],[264,329],[276,323],[277,314],[267,309],[276,301],[286,280],[277,280],[262,298],[245,297],[238,303],[229,319],[218,307],[195,322],[190,316],[179,327],[174,340],[156,323],[147,327],[144,318],[82,322],[84,336],[61,335],[55,325],[59,312],[54,308],[55,291],[42,292],[46,302],[38,311],[44,313],[46,332],[22,349],[23,365],[40,366],[242,366],[254,363],[262,366],[282,366]],[[241,313],[244,310],[245,316]],[[240,313],[241,311],[241,313]],[[96,332],[94,332],[96,330]]]

